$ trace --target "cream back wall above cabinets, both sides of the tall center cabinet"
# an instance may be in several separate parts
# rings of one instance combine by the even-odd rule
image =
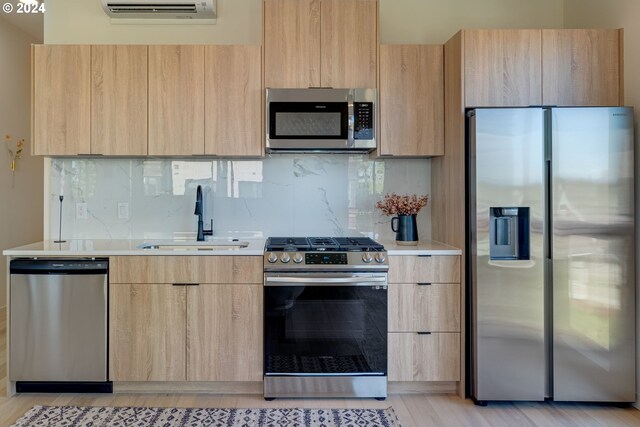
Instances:
[[[461,28],[562,28],[558,0],[380,0],[382,43],[444,43]],[[99,0],[48,2],[46,43],[260,44],[261,0],[218,0],[215,25],[112,24]]]

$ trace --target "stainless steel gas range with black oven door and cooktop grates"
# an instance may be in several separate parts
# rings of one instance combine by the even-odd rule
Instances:
[[[264,397],[387,396],[387,271],[369,238],[269,238]]]

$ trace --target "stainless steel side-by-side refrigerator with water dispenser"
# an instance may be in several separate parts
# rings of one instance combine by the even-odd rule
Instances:
[[[471,393],[635,401],[633,109],[468,113]]]

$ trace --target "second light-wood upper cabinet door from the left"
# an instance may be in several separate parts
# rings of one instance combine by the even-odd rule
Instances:
[[[147,46],[91,48],[91,154],[147,154]]]

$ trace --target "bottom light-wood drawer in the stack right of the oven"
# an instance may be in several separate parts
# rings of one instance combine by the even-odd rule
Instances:
[[[389,334],[389,381],[460,381],[460,334]]]

